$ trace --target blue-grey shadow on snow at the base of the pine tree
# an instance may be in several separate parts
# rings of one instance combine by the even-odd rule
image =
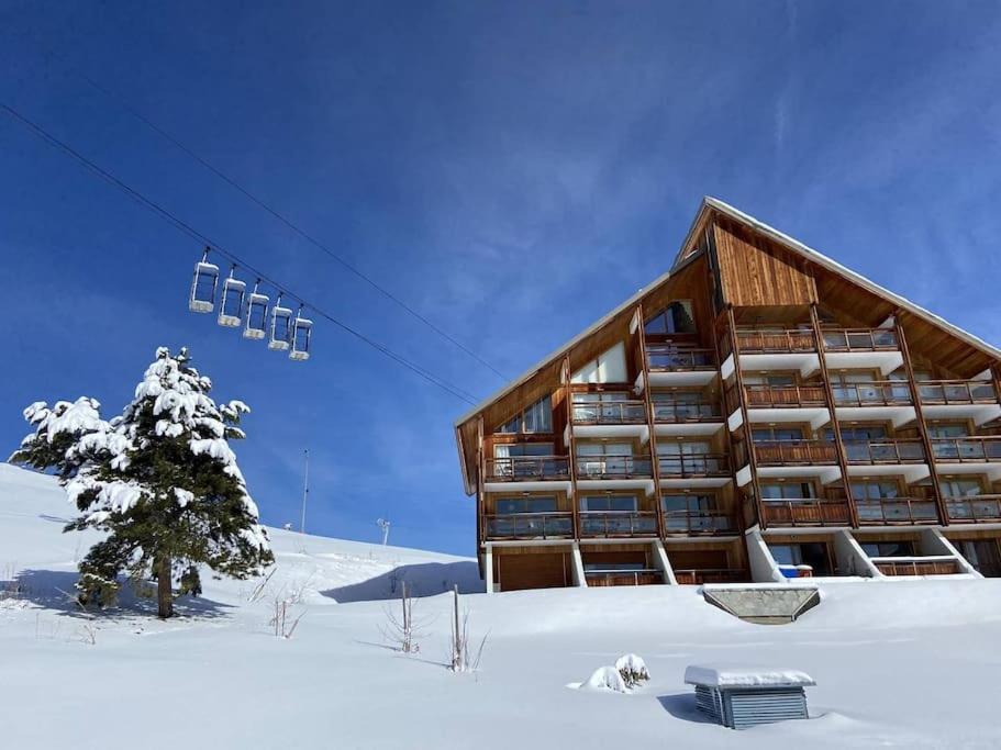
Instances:
[[[0,590],[16,591],[16,598],[66,617],[119,619],[135,615],[156,616],[156,598],[136,596],[127,582],[122,586],[115,606],[103,609],[91,606],[85,609],[76,602],[75,586],[78,578],[76,571],[22,570],[13,581],[0,581]],[[174,600],[174,613],[181,618],[214,619],[225,616],[231,608],[204,597],[182,596]]]

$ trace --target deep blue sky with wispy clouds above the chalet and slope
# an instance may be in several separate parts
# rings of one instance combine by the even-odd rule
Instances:
[[[204,234],[486,395],[489,370],[80,75],[514,377],[670,264],[703,194],[998,343],[1001,7],[0,4],[0,99]],[[471,553],[466,405],[318,323],[293,365],[185,295],[199,246],[0,115],[0,452],[35,400],[124,404],[159,345],[254,410],[266,523]]]

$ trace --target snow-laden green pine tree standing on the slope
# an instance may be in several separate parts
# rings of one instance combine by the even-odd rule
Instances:
[[[81,602],[113,603],[119,577],[157,580],[157,614],[174,614],[173,583],[201,590],[198,566],[236,579],[274,562],[257,506],[247,494],[229,440],[248,412],[240,401],[216,405],[211,381],[187,349],[166,348],[121,416],[105,422],[88,398],[37,402],[24,411],[35,426],[11,461],[55,469],[80,516],[64,531],[107,531],[80,562]]]

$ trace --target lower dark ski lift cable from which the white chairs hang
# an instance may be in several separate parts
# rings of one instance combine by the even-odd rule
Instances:
[[[137,190],[135,190],[134,188],[129,186],[127,183],[123,182],[121,179],[119,179],[111,172],[107,171],[105,169],[103,169],[102,167],[97,165],[94,161],[90,160],[89,158],[87,158],[86,156],[80,154],[78,150],[73,148],[73,146],[70,146],[69,144],[65,143],[64,141],[60,141],[56,136],[52,135],[48,131],[43,128],[41,125],[29,120],[26,116],[24,116],[23,114],[18,112],[15,109],[10,107],[5,102],[0,101],[0,110],[5,112],[7,114],[9,114],[11,117],[13,117],[20,124],[27,127],[37,137],[42,138],[49,145],[55,146],[56,148],[62,150],[64,154],[73,157],[79,164],[84,165],[87,169],[89,169],[93,175],[97,175],[98,177],[100,177],[104,181],[109,182],[113,187],[118,188],[119,190],[124,192],[126,195],[129,195],[130,198],[132,198],[133,200],[135,200],[136,202],[138,202],[140,204],[142,204],[143,206],[145,206],[146,209],[152,211],[153,213],[160,216],[163,220],[165,220],[167,223],[171,224],[179,232],[188,235],[189,237],[198,240],[199,243],[203,243],[207,246],[207,249],[209,249],[213,253],[220,254],[221,256],[223,256],[224,258],[227,258],[231,262],[240,266],[241,268],[247,269],[255,276],[257,276],[260,279],[263,279],[264,281],[266,281],[268,284],[273,286],[275,289],[285,290],[285,293],[288,296],[291,296],[291,298],[298,300],[301,305],[307,306],[310,310],[313,310],[318,315],[320,315],[324,320],[329,321],[330,323],[334,324],[335,326],[337,326],[345,333],[354,336],[358,340],[360,340],[360,342],[367,344],[368,346],[372,347],[374,349],[378,350],[387,358],[389,358],[389,359],[396,361],[397,363],[401,365],[402,367],[405,367],[407,369],[411,370],[412,372],[420,376],[421,378],[423,378],[431,384],[436,385],[437,388],[445,391],[446,393],[448,393],[461,401],[465,401],[471,405],[476,404],[476,396],[468,393],[467,391],[464,391],[461,388],[451,384],[448,381],[443,380],[442,378],[435,376],[434,373],[432,373],[429,370],[425,370],[423,367],[421,367],[416,362],[413,362],[413,361],[407,359],[405,357],[397,354],[389,347],[387,347],[382,344],[379,344],[378,342],[376,342],[372,338],[369,338],[362,332],[356,331],[355,328],[351,327],[346,323],[341,322],[340,320],[337,320],[330,313],[325,312],[321,307],[318,307],[315,304],[312,304],[311,302],[304,300],[299,294],[287,291],[288,287],[286,284],[278,283],[274,279],[268,277],[266,273],[264,273],[263,271],[256,269],[251,264],[244,261],[242,258],[236,256],[234,253],[225,249],[219,243],[212,240],[210,237],[205,236],[204,234],[202,234],[201,232],[196,230],[193,226],[191,226],[190,224],[185,222],[182,219],[170,213],[170,211],[163,208],[155,201],[146,198],[144,194],[142,194],[141,192],[138,192]],[[205,255],[203,257],[207,258],[208,255]]]

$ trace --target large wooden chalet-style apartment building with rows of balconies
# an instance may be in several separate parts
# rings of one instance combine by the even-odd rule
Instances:
[[[999,396],[997,349],[707,199],[669,273],[456,423],[485,578],[750,580],[747,534],[856,571],[820,528],[911,552],[872,574],[1001,574]]]

